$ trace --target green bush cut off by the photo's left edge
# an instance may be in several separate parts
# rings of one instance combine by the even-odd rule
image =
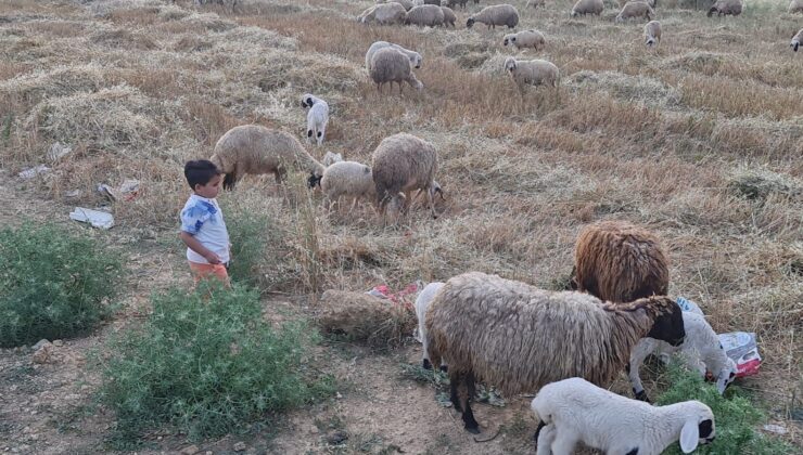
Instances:
[[[68,338],[107,314],[119,259],[91,237],[53,224],[0,231],[0,347]]]

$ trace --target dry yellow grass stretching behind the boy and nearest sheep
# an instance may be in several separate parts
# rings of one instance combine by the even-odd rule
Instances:
[[[296,239],[320,248],[298,259],[320,261],[307,283],[398,287],[479,270],[552,286],[584,224],[626,219],[670,246],[673,295],[699,302],[718,332],[759,334],[763,373],[745,384],[774,418],[788,418],[803,395],[803,60],[788,47],[801,17],[786,2],[722,20],[671,2],[659,6],[664,36],[649,50],[642,24],[613,24],[610,5],[602,17],[570,20],[569,0],[537,11],[512,2],[519,28],[548,42],[520,57],[558,65],[557,95],[518,94],[500,68],[513,53],[501,47],[505,31],[464,28],[473,2],[445,30],[358,26],[370,0],[254,0],[234,13],[180,0],[4,1],[0,167],[46,162],[53,142],[66,143],[73,154],[28,191],[61,200],[79,188],[91,204],[98,183],[136,178],[142,193],[115,207],[118,229],[173,236],[182,164],[208,157],[237,125],[301,138],[298,96],[316,93],[331,122],[314,155],[368,162],[383,138],[413,133],[437,147],[447,202],[437,220],[412,210],[388,227],[367,208],[321,210],[317,246]],[[422,92],[377,93],[364,56],[380,39],[423,54]],[[750,169],[786,186],[744,197],[734,182]],[[222,197],[304,235],[293,227],[304,213],[286,210],[269,179],[243,183]]]

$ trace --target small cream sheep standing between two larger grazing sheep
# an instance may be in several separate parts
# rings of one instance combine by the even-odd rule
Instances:
[[[343,196],[350,197],[354,200],[350,210],[357,207],[360,198],[371,203],[377,198],[371,168],[361,162],[339,161],[331,165],[323,171],[320,188],[330,205]]]

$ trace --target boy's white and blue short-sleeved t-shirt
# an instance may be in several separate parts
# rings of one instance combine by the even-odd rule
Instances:
[[[181,209],[181,231],[191,234],[203,246],[214,251],[220,262],[229,262],[229,232],[226,230],[224,213],[217,200],[196,194],[190,196]],[[187,260],[208,264],[203,256],[187,248]]]

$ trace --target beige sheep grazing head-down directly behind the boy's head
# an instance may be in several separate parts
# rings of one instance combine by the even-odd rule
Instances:
[[[227,131],[215,144],[209,160],[226,173],[225,190],[233,190],[246,173],[272,172],[276,182],[281,183],[288,166],[308,171],[310,176],[307,182],[311,187],[324,170],[323,165],[309,156],[297,139],[259,125],[242,125]]]

